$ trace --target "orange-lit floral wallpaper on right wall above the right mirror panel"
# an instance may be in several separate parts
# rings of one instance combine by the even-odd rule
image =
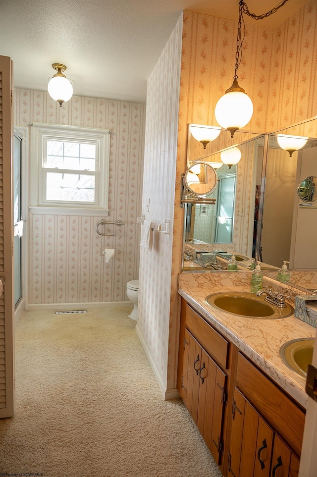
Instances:
[[[316,57],[317,2],[312,0],[274,31],[268,131],[317,114]]]

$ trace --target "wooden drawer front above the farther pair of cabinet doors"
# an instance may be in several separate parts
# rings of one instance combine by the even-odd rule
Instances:
[[[218,364],[228,369],[229,342],[189,305],[186,305],[186,328]]]

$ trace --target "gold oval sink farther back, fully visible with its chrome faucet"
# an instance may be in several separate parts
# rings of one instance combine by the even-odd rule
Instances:
[[[294,313],[294,308],[285,303],[285,308],[278,308],[264,302],[265,297],[257,297],[248,292],[218,292],[206,298],[206,303],[217,310],[246,318],[286,318]]]

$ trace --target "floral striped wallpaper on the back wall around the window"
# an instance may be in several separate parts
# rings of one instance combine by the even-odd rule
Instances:
[[[60,107],[45,92],[17,89],[14,125],[30,122],[111,129],[106,218],[125,225],[103,237],[95,227],[105,217],[29,213],[28,303],[128,301],[126,283],[139,276],[145,105],[73,96]],[[108,263],[105,248],[115,249]]]

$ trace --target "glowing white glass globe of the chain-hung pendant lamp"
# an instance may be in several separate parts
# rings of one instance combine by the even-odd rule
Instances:
[[[214,114],[217,122],[225,129],[244,127],[253,114],[253,104],[245,93],[232,91],[218,100]]]

